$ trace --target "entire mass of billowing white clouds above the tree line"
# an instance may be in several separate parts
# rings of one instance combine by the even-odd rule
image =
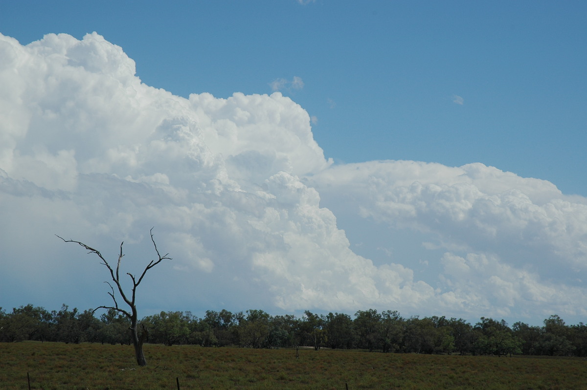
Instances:
[[[174,96],[96,33],[0,36],[0,85],[8,306],[103,304],[99,264],[53,234],[110,255],[124,240],[131,270],[156,226],[174,260],[150,276],[146,311],[585,314],[587,201],[549,182],[482,164],[333,165],[281,93]],[[357,255],[335,215],[421,236],[430,272]]]

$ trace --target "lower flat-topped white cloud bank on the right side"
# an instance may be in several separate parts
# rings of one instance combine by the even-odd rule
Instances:
[[[478,163],[347,164],[326,169],[308,184],[339,216],[387,225],[390,238],[409,229],[422,237],[430,256],[448,250],[436,259],[444,269],[428,277],[436,279],[440,297],[450,293],[458,299],[454,309],[514,317],[584,314],[587,290],[578,280],[587,275],[585,198]],[[434,244],[424,242],[430,238]]]

